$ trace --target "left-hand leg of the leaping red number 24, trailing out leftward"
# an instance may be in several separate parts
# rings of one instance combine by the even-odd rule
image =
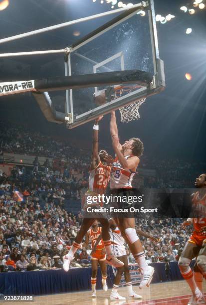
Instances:
[[[84,218],[83,219],[83,222],[82,222],[82,225],[80,227],[80,230],[69,250],[69,253],[66,254],[64,257],[63,257],[63,269],[64,271],[68,271],[69,270],[69,265],[70,265],[70,262],[71,260],[73,259],[74,257],[74,254],[76,253],[76,251],[78,249],[80,249],[80,244],[83,240],[83,237],[84,235],[86,234],[86,232],[88,231],[88,229],[91,227],[91,225],[94,223],[95,219],[89,219],[89,218]]]

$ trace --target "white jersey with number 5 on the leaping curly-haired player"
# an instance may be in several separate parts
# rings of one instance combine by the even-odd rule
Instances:
[[[131,155],[125,156],[127,160]],[[132,187],[132,179],[136,174],[136,171],[132,171],[130,169],[122,168],[118,158],[114,159],[112,164],[112,174],[110,180],[111,188],[131,188]]]

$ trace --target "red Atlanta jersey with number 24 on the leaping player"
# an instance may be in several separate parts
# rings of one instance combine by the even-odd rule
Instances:
[[[90,170],[89,189],[98,194],[104,194],[110,180],[111,167],[99,162],[96,168]]]

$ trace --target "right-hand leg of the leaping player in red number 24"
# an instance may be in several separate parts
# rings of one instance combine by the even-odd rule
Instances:
[[[111,239],[109,234],[109,221],[106,218],[99,218],[98,221],[102,225],[102,239],[104,241],[104,247],[107,256],[106,257],[107,264],[114,267],[123,266],[123,263],[120,260],[118,260],[112,253]]]

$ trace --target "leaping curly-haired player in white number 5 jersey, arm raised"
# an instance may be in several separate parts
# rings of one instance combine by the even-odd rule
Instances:
[[[144,151],[143,143],[138,138],[132,138],[123,145],[119,143],[114,111],[111,113],[110,133],[112,145],[116,153],[116,159],[113,162],[110,187],[111,189],[132,188],[132,179],[136,174],[140,156]],[[144,286],[149,287],[152,281],[154,268],[148,266],[145,260],[142,244],[135,230],[135,219],[119,218],[118,226],[143,275],[139,288],[142,289]]]

